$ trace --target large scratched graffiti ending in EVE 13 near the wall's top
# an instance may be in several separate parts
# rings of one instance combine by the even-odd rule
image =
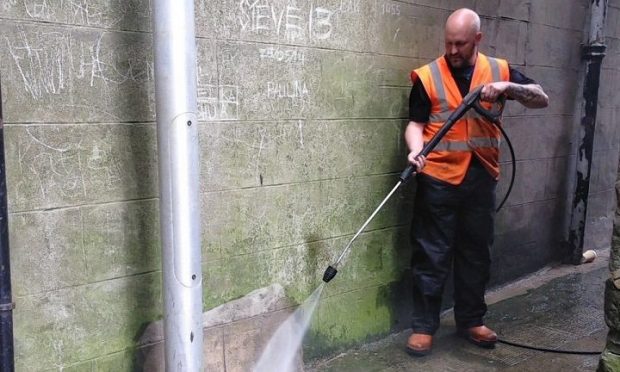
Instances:
[[[241,0],[237,19],[242,32],[284,37],[287,40],[329,39],[334,11],[310,5],[302,8],[289,0],[279,6],[273,0]]]

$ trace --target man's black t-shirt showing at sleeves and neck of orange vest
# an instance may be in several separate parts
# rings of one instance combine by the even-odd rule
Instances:
[[[469,85],[471,83],[471,76],[474,73],[474,66],[467,66],[463,68],[454,68],[450,66],[450,72],[456,82],[456,85],[461,92],[461,96],[465,97],[469,93]],[[510,71],[510,82],[516,84],[536,84],[536,82],[521,72],[508,66]],[[411,94],[409,95],[409,120],[416,123],[428,123],[431,114],[431,100],[424,89],[424,85],[420,79],[416,79],[411,87]]]

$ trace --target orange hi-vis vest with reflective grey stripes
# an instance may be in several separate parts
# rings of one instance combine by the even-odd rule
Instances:
[[[426,144],[461,103],[463,97],[443,56],[414,70],[414,73],[421,80],[431,100],[430,119],[424,126],[423,133]],[[414,78],[414,74],[411,75]],[[478,53],[470,90],[482,84],[509,79],[508,62]],[[497,179],[500,135],[500,130],[493,123],[475,110],[469,110],[428,154],[422,173],[459,185],[463,182],[475,154],[484,168]]]

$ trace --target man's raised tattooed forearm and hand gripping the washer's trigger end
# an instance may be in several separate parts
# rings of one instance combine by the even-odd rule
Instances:
[[[496,81],[486,84],[480,92],[480,99],[487,102],[495,102],[500,95],[519,101],[527,108],[543,108],[549,105],[549,97],[538,84],[515,84],[508,81]]]

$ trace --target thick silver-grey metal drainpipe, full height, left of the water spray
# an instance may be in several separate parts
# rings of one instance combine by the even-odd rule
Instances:
[[[202,371],[193,0],[153,0],[166,371]]]

